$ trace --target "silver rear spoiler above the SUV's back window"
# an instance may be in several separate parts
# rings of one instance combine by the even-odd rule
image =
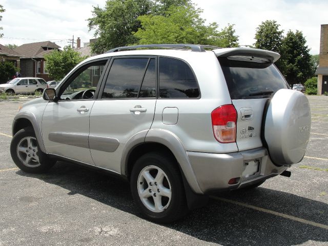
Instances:
[[[276,52],[269,50],[260,50],[253,48],[228,48],[213,50],[217,57],[231,57],[231,56],[254,56],[259,58],[268,59],[271,63],[274,63],[280,58],[280,55]]]

